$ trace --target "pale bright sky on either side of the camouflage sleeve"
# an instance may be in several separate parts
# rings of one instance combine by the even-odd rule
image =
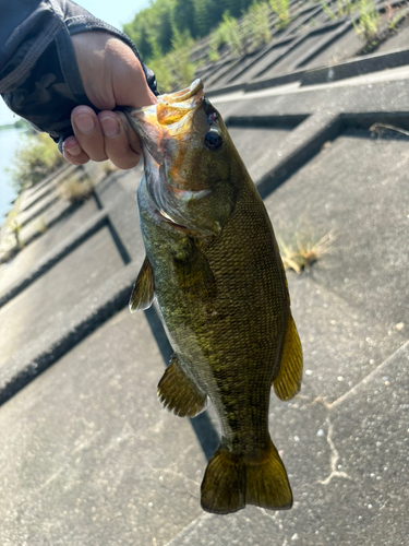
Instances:
[[[79,0],[76,3],[106,23],[122,29],[122,24],[129,23],[135,13],[147,8],[151,0]],[[14,123],[19,119],[0,99],[0,126]]]

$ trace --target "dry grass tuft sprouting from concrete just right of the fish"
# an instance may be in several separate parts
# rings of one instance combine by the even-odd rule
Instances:
[[[334,232],[320,238],[313,237],[309,232],[296,233],[286,238],[278,235],[277,242],[285,269],[293,270],[297,274],[308,270],[329,251],[336,238]]]

